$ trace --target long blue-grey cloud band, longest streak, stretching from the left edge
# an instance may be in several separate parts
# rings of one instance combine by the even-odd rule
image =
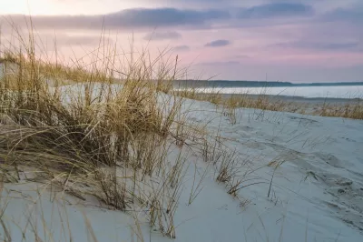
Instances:
[[[25,24],[24,15],[8,15],[15,24]],[[176,8],[134,8],[107,15],[34,15],[38,29],[139,29],[163,26],[208,25],[213,20],[229,19],[227,11],[180,10]]]

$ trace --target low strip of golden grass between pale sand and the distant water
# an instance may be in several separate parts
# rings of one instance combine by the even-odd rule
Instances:
[[[268,87],[262,88],[260,95],[250,96],[248,93],[224,95],[218,88],[180,87],[174,91],[174,95],[199,101],[207,101],[223,108],[225,116],[229,116],[231,124],[235,123],[234,113],[238,107],[256,108],[260,110],[299,113],[313,116],[335,116],[353,119],[363,119],[363,103],[360,99],[352,99],[346,104],[323,102],[315,106],[309,103],[286,101],[283,98],[275,98],[267,95]]]

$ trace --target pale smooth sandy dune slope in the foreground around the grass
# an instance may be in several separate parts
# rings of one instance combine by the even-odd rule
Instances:
[[[239,109],[237,124],[231,125],[209,103],[189,100],[184,108],[195,110],[190,112],[192,122],[209,120],[211,131],[221,128],[221,136],[228,138],[225,143],[243,162],[243,188],[240,199],[231,197],[211,171],[202,181],[200,195],[188,205],[194,175],[190,166],[174,219],[175,241],[362,241],[363,121]],[[197,164],[199,174],[206,167],[195,156],[190,162]],[[39,198],[35,187],[44,188]],[[132,241],[132,218],[100,208],[93,199],[83,202],[58,193],[62,198],[53,203],[46,187],[34,183],[5,185],[3,197],[5,193],[7,221],[25,226],[24,212],[33,211],[39,223],[42,217],[47,221],[45,231],[53,231],[54,241],[69,241],[65,239],[69,231],[73,241],[93,241],[86,237],[83,212],[99,241]],[[8,223],[13,240],[21,241],[19,229]],[[38,229],[44,235],[42,225]],[[170,241],[158,231],[150,235],[146,223],[142,232],[145,241]]]

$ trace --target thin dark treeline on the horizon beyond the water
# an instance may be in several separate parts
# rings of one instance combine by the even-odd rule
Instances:
[[[363,82],[339,82],[339,83],[290,83],[270,81],[198,81],[198,80],[175,80],[175,87],[280,87],[280,86],[363,86]]]

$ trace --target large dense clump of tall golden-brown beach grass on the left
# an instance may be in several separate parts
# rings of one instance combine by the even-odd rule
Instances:
[[[75,197],[145,210],[152,227],[175,237],[185,159],[167,155],[184,136],[185,118],[183,99],[167,93],[177,59],[143,53],[116,67],[117,50],[109,47],[88,53],[92,65],[66,66],[37,55],[33,35],[14,33],[18,48],[1,46],[2,176],[18,182],[35,170],[30,180]]]

